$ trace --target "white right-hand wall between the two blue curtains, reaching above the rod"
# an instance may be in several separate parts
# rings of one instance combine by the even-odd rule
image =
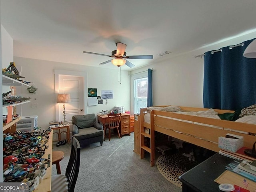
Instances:
[[[203,107],[204,58],[195,55],[236,45],[256,37],[256,32],[233,37],[223,42],[184,53],[166,57],[166,60],[131,72],[135,74],[153,68],[153,104]],[[132,84],[132,83],[131,83]],[[133,98],[133,93],[131,92]]]

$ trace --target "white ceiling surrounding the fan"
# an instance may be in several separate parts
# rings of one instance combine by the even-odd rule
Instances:
[[[256,28],[255,0],[1,0],[1,23],[14,56],[114,68],[116,42],[135,68]],[[166,57],[169,57],[166,56]]]

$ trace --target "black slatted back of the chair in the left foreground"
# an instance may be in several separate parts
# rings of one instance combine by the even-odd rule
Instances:
[[[72,137],[71,153],[65,173],[68,180],[68,192],[74,192],[76,186],[80,167],[80,150],[79,141],[75,137]]]

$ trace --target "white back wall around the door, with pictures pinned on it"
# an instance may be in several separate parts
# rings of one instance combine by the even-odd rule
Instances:
[[[21,95],[30,97],[31,102],[20,105],[22,116],[37,115],[38,126],[48,128],[49,122],[55,120],[56,94],[54,90],[54,69],[87,72],[87,88],[97,88],[98,96],[101,90],[113,90],[114,99],[108,99],[108,104],[87,106],[87,112],[95,113],[102,110],[111,110],[114,106],[124,106],[130,110],[130,76],[127,71],[122,71],[122,84],[118,82],[118,68],[116,70],[99,67],[82,66],[68,63],[35,60],[29,58],[14,57],[17,66],[21,66],[21,74],[28,82],[34,82],[38,90],[36,94],[28,93],[26,87],[22,87]],[[38,104],[38,108],[32,108],[32,104]],[[85,101],[87,103],[87,101]]]

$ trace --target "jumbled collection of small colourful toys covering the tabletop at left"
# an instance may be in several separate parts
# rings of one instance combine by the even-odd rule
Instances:
[[[34,128],[4,134],[4,182],[26,182],[30,192],[36,189],[51,163],[50,155],[43,158],[50,132]]]

